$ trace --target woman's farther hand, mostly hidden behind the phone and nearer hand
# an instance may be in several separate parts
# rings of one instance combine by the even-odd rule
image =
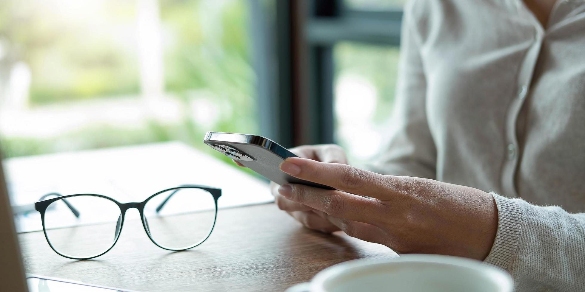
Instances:
[[[305,145],[300,147],[291,148],[290,151],[298,157],[308,158],[315,161],[329,162],[335,164],[347,164],[347,158],[343,148],[335,144],[324,144],[324,145]],[[235,161],[239,166],[238,161]],[[274,196],[274,202],[278,208],[286,211],[293,218],[299,221],[305,227],[318,230],[325,233],[331,233],[339,231],[339,227],[332,224],[327,218],[319,215],[318,211],[314,208],[308,207],[305,204],[291,201],[278,193],[278,187],[274,182],[270,182],[270,190]]]

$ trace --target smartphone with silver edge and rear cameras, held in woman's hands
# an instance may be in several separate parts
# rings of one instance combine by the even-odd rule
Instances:
[[[281,171],[278,168],[280,163],[284,159],[297,157],[297,155],[269,138],[259,135],[207,132],[203,142],[223,155],[259,173],[264,178],[278,183],[278,185],[300,183],[301,185],[320,187],[321,189],[333,189],[330,186],[295,178]]]

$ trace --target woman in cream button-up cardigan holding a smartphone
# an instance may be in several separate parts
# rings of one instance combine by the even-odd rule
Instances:
[[[397,252],[485,260],[518,290],[583,290],[585,1],[413,1],[401,46],[374,172],[297,148],[314,160],[281,169],[339,190],[276,186],[278,206]]]

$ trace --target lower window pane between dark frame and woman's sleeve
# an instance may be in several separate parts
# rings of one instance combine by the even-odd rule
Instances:
[[[357,43],[335,45],[335,141],[352,164],[380,151],[395,92],[398,48]]]

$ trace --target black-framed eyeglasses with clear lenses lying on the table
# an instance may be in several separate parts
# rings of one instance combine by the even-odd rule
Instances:
[[[46,199],[50,196],[56,197]],[[101,194],[49,193],[35,209],[53,251],[65,258],[92,259],[116,244],[129,208],[138,209],[144,231],[160,248],[194,248],[211,235],[220,196],[221,189],[199,185],[171,187],[142,203],[125,204]]]

